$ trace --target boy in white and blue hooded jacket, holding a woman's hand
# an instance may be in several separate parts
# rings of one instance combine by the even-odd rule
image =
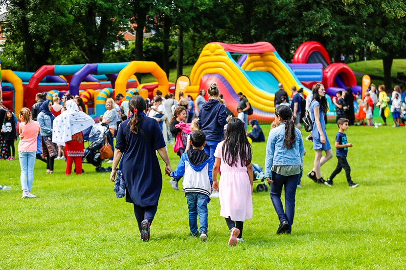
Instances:
[[[198,236],[200,233],[200,240],[203,242],[207,241],[207,204],[210,201],[214,165],[213,158],[203,151],[205,141],[206,135],[203,131],[194,131],[190,136],[193,149],[182,154],[176,170],[169,174],[175,179],[183,176],[183,189],[189,208],[190,235]]]

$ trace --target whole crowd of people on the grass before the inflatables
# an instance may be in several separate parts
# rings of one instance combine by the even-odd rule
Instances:
[[[312,93],[305,98],[303,89],[297,90],[293,86],[292,95],[288,96],[283,85],[279,84],[274,100],[275,121],[268,136],[264,166],[264,178],[271,186],[271,201],[279,218],[276,233],[292,232],[295,193],[296,188],[301,187],[303,157],[306,154],[300,131],[301,120],[306,114],[312,121],[309,137],[315,150],[313,168],[307,176],[315,183],[329,187],[333,186],[333,179],[342,168],[348,186],[358,186],[351,179],[351,168],[346,159],[348,148],[353,146],[345,134],[349,125],[354,125],[356,119],[361,120],[362,116],[367,119],[367,125],[374,125],[371,115],[377,107],[385,125],[387,114],[382,111],[387,110],[390,103],[394,126],[400,125],[396,119],[406,107],[405,102],[400,100],[400,88],[395,87],[389,100],[383,85],[378,87],[379,95],[374,86],[363,100],[358,99],[357,117],[354,116],[354,100],[357,97],[352,94],[352,89],[337,92],[333,102],[337,112],[338,133],[334,147],[338,163],[330,177],[324,180],[320,168],[333,157],[332,145],[326,134],[326,90],[323,84],[316,83]],[[108,126],[111,133],[109,144],[114,153],[108,161],[112,163],[110,179],[115,183],[114,190],[120,190],[120,197],[125,196],[126,202],[134,205],[142,240],[150,239],[150,226],[158,210],[162,189],[158,152],[165,163],[164,172],[171,178],[170,185],[179,190],[178,183],[183,178],[182,190],[189,209],[190,234],[207,241],[207,204],[218,191],[220,215],[225,218],[229,229],[228,245],[235,246],[244,241],[244,222],[252,218],[253,180],[259,175],[259,166],[252,163],[254,153],[249,140],[264,142],[265,136],[257,120],[248,122],[248,111],[252,108],[246,96],[243,93],[238,96],[237,117],[233,117],[226,108],[215,83],[207,92],[200,90],[195,101],[190,95],[184,97],[181,92],[178,100],[171,93],[162,97],[159,90],[151,101],[138,94],[129,101],[122,101],[122,95],[106,100],[106,112],[99,120]],[[36,159],[46,163],[47,174],[54,172],[56,159],[66,159],[66,175],[71,174],[73,163],[76,174],[84,173],[83,131],[94,125],[94,121],[86,114],[86,106],[80,97],[65,95],[59,100],[56,95],[50,101],[45,94],[39,93],[32,109],[22,108],[18,118],[21,124],[16,127],[15,115],[0,108],[1,155],[10,161],[15,156],[14,142],[17,135],[20,136],[18,152],[23,198],[36,197],[31,193]],[[247,132],[248,125],[251,126],[250,132]],[[167,153],[171,142],[172,150],[180,158],[175,170]],[[217,180],[218,174],[220,180]],[[281,201],[282,188],[285,189],[285,209]],[[121,194],[123,192],[125,195]]]

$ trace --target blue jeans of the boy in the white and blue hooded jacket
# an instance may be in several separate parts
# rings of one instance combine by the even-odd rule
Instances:
[[[189,208],[189,228],[191,235],[207,232],[207,201],[209,197],[201,193],[186,193]],[[200,229],[197,230],[197,216],[199,215]]]

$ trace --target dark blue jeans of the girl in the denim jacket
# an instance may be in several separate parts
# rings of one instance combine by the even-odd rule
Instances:
[[[294,202],[297,188],[297,181],[299,181],[299,175],[284,176],[272,171],[271,184],[271,200],[273,208],[275,208],[276,214],[278,214],[279,222],[284,220],[288,221],[289,228],[287,232],[292,231],[293,217],[294,217]],[[286,213],[283,210],[281,201],[282,187],[285,185],[285,207]]]

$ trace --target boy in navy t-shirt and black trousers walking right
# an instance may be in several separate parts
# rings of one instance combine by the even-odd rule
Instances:
[[[337,167],[331,174],[331,176],[324,182],[325,185],[332,187],[333,179],[341,169],[344,168],[345,176],[347,177],[348,186],[358,187],[358,184],[352,182],[351,180],[351,168],[347,161],[348,147],[352,147],[352,144],[347,142],[347,134],[345,131],[348,129],[348,119],[339,118],[337,121],[338,133],[336,135],[336,156],[338,159]]]

